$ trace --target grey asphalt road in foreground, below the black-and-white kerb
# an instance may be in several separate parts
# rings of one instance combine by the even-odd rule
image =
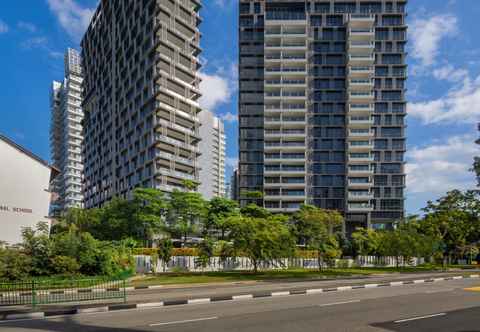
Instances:
[[[7,331],[480,331],[478,279],[7,321]]]

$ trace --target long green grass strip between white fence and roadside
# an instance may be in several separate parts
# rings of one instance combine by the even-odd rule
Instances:
[[[129,282],[130,286],[148,286],[148,285],[173,285],[173,284],[199,284],[199,283],[218,283],[235,281],[275,281],[275,280],[315,280],[326,278],[341,278],[352,276],[365,276],[371,274],[383,273],[414,273],[439,271],[435,266],[423,267],[375,267],[375,268],[350,268],[350,269],[328,269],[323,271],[289,269],[279,271],[260,271],[253,273],[250,271],[231,271],[231,272],[178,272],[150,275],[140,278],[134,278]]]

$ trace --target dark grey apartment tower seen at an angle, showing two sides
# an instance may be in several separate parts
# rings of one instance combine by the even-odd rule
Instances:
[[[100,1],[82,40],[87,208],[198,182],[200,8]]]

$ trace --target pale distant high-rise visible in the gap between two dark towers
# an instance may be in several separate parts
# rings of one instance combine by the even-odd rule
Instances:
[[[212,112],[203,110],[200,123],[200,186],[206,199],[225,196],[225,129],[223,121]]]

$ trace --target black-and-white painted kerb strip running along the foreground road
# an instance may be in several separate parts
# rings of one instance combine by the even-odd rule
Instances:
[[[253,293],[253,294],[221,295],[221,296],[214,296],[209,298],[165,300],[161,302],[120,303],[120,304],[112,304],[108,306],[98,306],[98,305],[92,306],[92,307],[82,306],[81,308],[55,309],[55,310],[49,310],[44,312],[39,312],[39,311],[17,312],[17,313],[7,313],[3,315],[0,314],[0,323],[2,321],[9,321],[9,320],[43,319],[43,318],[59,316],[59,315],[74,315],[74,314],[84,314],[84,313],[157,308],[157,307],[178,306],[178,305],[208,304],[213,302],[242,301],[242,300],[252,300],[257,298],[280,297],[280,296],[290,296],[290,295],[311,295],[311,294],[321,294],[321,293],[328,293],[328,292],[351,291],[351,290],[363,289],[363,288],[366,289],[366,288],[378,288],[378,287],[393,287],[393,286],[402,286],[402,285],[423,284],[427,282],[461,280],[461,279],[479,278],[479,277],[480,275],[478,274],[472,274],[468,276],[392,281],[392,282],[386,282],[386,283],[380,283],[380,284],[348,285],[348,286],[339,286],[339,287],[330,287],[330,288],[313,288],[313,289],[294,289],[290,291],[273,291],[273,292],[259,292],[259,293]],[[345,302],[345,303],[351,303],[351,302]]]

